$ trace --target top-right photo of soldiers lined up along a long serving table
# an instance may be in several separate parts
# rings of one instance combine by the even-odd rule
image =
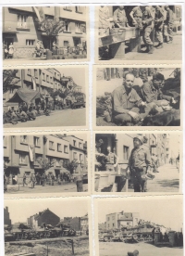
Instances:
[[[182,6],[98,6],[96,60],[182,59]]]

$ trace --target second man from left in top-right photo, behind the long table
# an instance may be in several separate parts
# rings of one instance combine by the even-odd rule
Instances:
[[[124,6],[118,6],[118,8],[114,11],[113,20],[115,23],[115,28],[129,27]]]

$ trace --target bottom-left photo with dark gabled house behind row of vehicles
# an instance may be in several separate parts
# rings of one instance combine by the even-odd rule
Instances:
[[[4,255],[92,255],[89,205],[89,198],[6,199]]]

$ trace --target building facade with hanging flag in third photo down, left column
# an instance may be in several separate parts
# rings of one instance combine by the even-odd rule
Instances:
[[[79,141],[81,142],[80,139]],[[28,178],[31,173],[43,174],[44,172],[53,173],[57,177],[60,173],[67,171],[64,168],[65,161],[73,160],[74,154],[71,151],[78,152],[78,160],[85,159],[83,149],[72,150],[68,139],[58,135],[4,136],[4,164],[8,183],[12,184],[12,176],[18,175],[19,184],[21,184],[24,173]],[[40,159],[48,159],[52,163],[51,168],[44,171],[39,163]],[[76,170],[77,173],[80,171]]]

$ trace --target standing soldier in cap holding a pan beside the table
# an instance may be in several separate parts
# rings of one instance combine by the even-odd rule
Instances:
[[[142,144],[142,135],[133,138],[134,148],[129,157],[128,173],[130,173],[133,182],[134,192],[146,192],[145,175],[151,167],[150,152]]]

